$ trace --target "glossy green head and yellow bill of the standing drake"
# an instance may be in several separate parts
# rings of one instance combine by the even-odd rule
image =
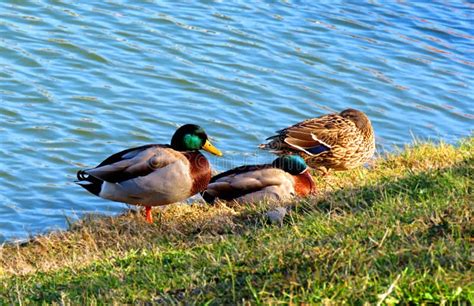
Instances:
[[[217,156],[222,156],[221,151],[209,141],[206,132],[199,125],[185,124],[171,138],[171,147],[176,151],[206,150]]]

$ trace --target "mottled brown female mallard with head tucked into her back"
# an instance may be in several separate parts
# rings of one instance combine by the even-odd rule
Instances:
[[[308,119],[277,131],[261,149],[274,153],[298,154],[308,166],[324,174],[355,168],[375,152],[375,139],[369,118],[361,111],[346,109]]]

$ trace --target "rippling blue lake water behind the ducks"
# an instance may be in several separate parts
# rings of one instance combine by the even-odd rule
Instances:
[[[472,2],[315,2],[2,0],[0,241],[123,211],[75,172],[184,123],[223,150],[218,170],[347,107],[379,152],[472,133]]]

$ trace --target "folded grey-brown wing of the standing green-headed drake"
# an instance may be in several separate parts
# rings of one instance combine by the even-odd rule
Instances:
[[[140,176],[146,176],[176,161],[167,154],[166,145],[146,145],[116,153],[93,169],[78,172],[79,180],[92,176],[109,183],[120,183]]]

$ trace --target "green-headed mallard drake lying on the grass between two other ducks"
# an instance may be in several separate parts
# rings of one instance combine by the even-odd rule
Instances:
[[[216,199],[237,203],[287,201],[316,191],[313,178],[303,158],[297,155],[278,157],[271,164],[238,167],[214,176],[202,193],[204,200]]]

